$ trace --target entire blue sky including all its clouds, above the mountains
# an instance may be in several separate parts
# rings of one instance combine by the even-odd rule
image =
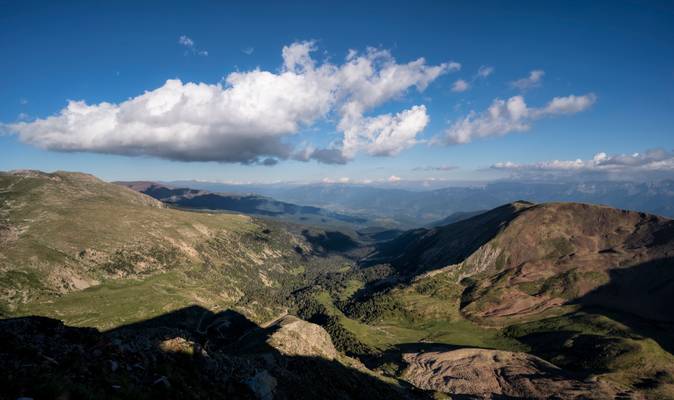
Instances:
[[[284,47],[312,67],[288,64]],[[0,51],[2,170],[237,182],[674,176],[672,2],[0,1]],[[351,84],[358,60],[374,72]],[[387,65],[403,78],[386,81]],[[543,73],[526,80],[532,71]],[[245,83],[235,91],[232,73]],[[191,100],[148,117],[175,79],[169,89]],[[298,79],[334,87],[314,93]],[[458,80],[467,90],[452,90]],[[211,100],[188,82],[208,85]],[[146,91],[147,104],[124,105]],[[73,108],[45,120],[68,100],[100,119]]]

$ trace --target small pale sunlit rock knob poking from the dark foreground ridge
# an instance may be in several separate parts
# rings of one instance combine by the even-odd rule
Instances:
[[[269,329],[267,344],[287,356],[321,357],[333,360],[337,350],[321,326],[287,315]]]

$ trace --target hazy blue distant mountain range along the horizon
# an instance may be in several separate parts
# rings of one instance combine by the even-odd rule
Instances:
[[[185,182],[182,182],[185,183]],[[356,184],[235,185],[190,183],[211,191],[259,193],[281,201],[338,212],[391,218],[401,227],[434,223],[455,212],[489,210],[526,199],[536,203],[581,202],[674,217],[674,180],[659,182],[514,182],[409,190]]]

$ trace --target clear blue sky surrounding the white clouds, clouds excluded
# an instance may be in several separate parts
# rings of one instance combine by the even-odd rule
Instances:
[[[427,178],[480,180],[490,166],[674,149],[672,2],[37,2],[0,1],[0,169],[79,170],[108,180],[319,181]],[[192,48],[179,43],[189,37]],[[337,65],[349,49],[389,50],[398,63],[424,57],[461,70],[384,102],[367,115],[426,106],[419,143],[397,155],[357,154],[344,165],[280,160],[274,166],[184,162],[151,156],[58,152],[23,143],[11,127],[57,114],[67,100],[120,103],[168,79],[216,84],[255,68],[279,72],[281,50],[313,40],[314,58]],[[200,55],[199,52],[208,52]],[[481,66],[493,74],[474,79]],[[511,82],[545,75],[524,92]],[[457,79],[471,88],[457,93]],[[529,107],[593,93],[572,115],[540,118],[526,132],[430,145],[453,121],[494,99],[523,95]],[[329,114],[284,140],[319,147],[339,141]],[[455,166],[452,170],[432,168]],[[446,169],[446,168],[445,168]]]

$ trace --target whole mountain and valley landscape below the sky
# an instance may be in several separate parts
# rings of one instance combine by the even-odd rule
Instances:
[[[0,173],[2,396],[674,398],[674,221],[506,186],[288,189],[326,200],[304,209]],[[516,199],[478,201],[497,189]],[[336,190],[348,218],[386,209],[357,224],[410,204],[415,228],[354,234]]]

